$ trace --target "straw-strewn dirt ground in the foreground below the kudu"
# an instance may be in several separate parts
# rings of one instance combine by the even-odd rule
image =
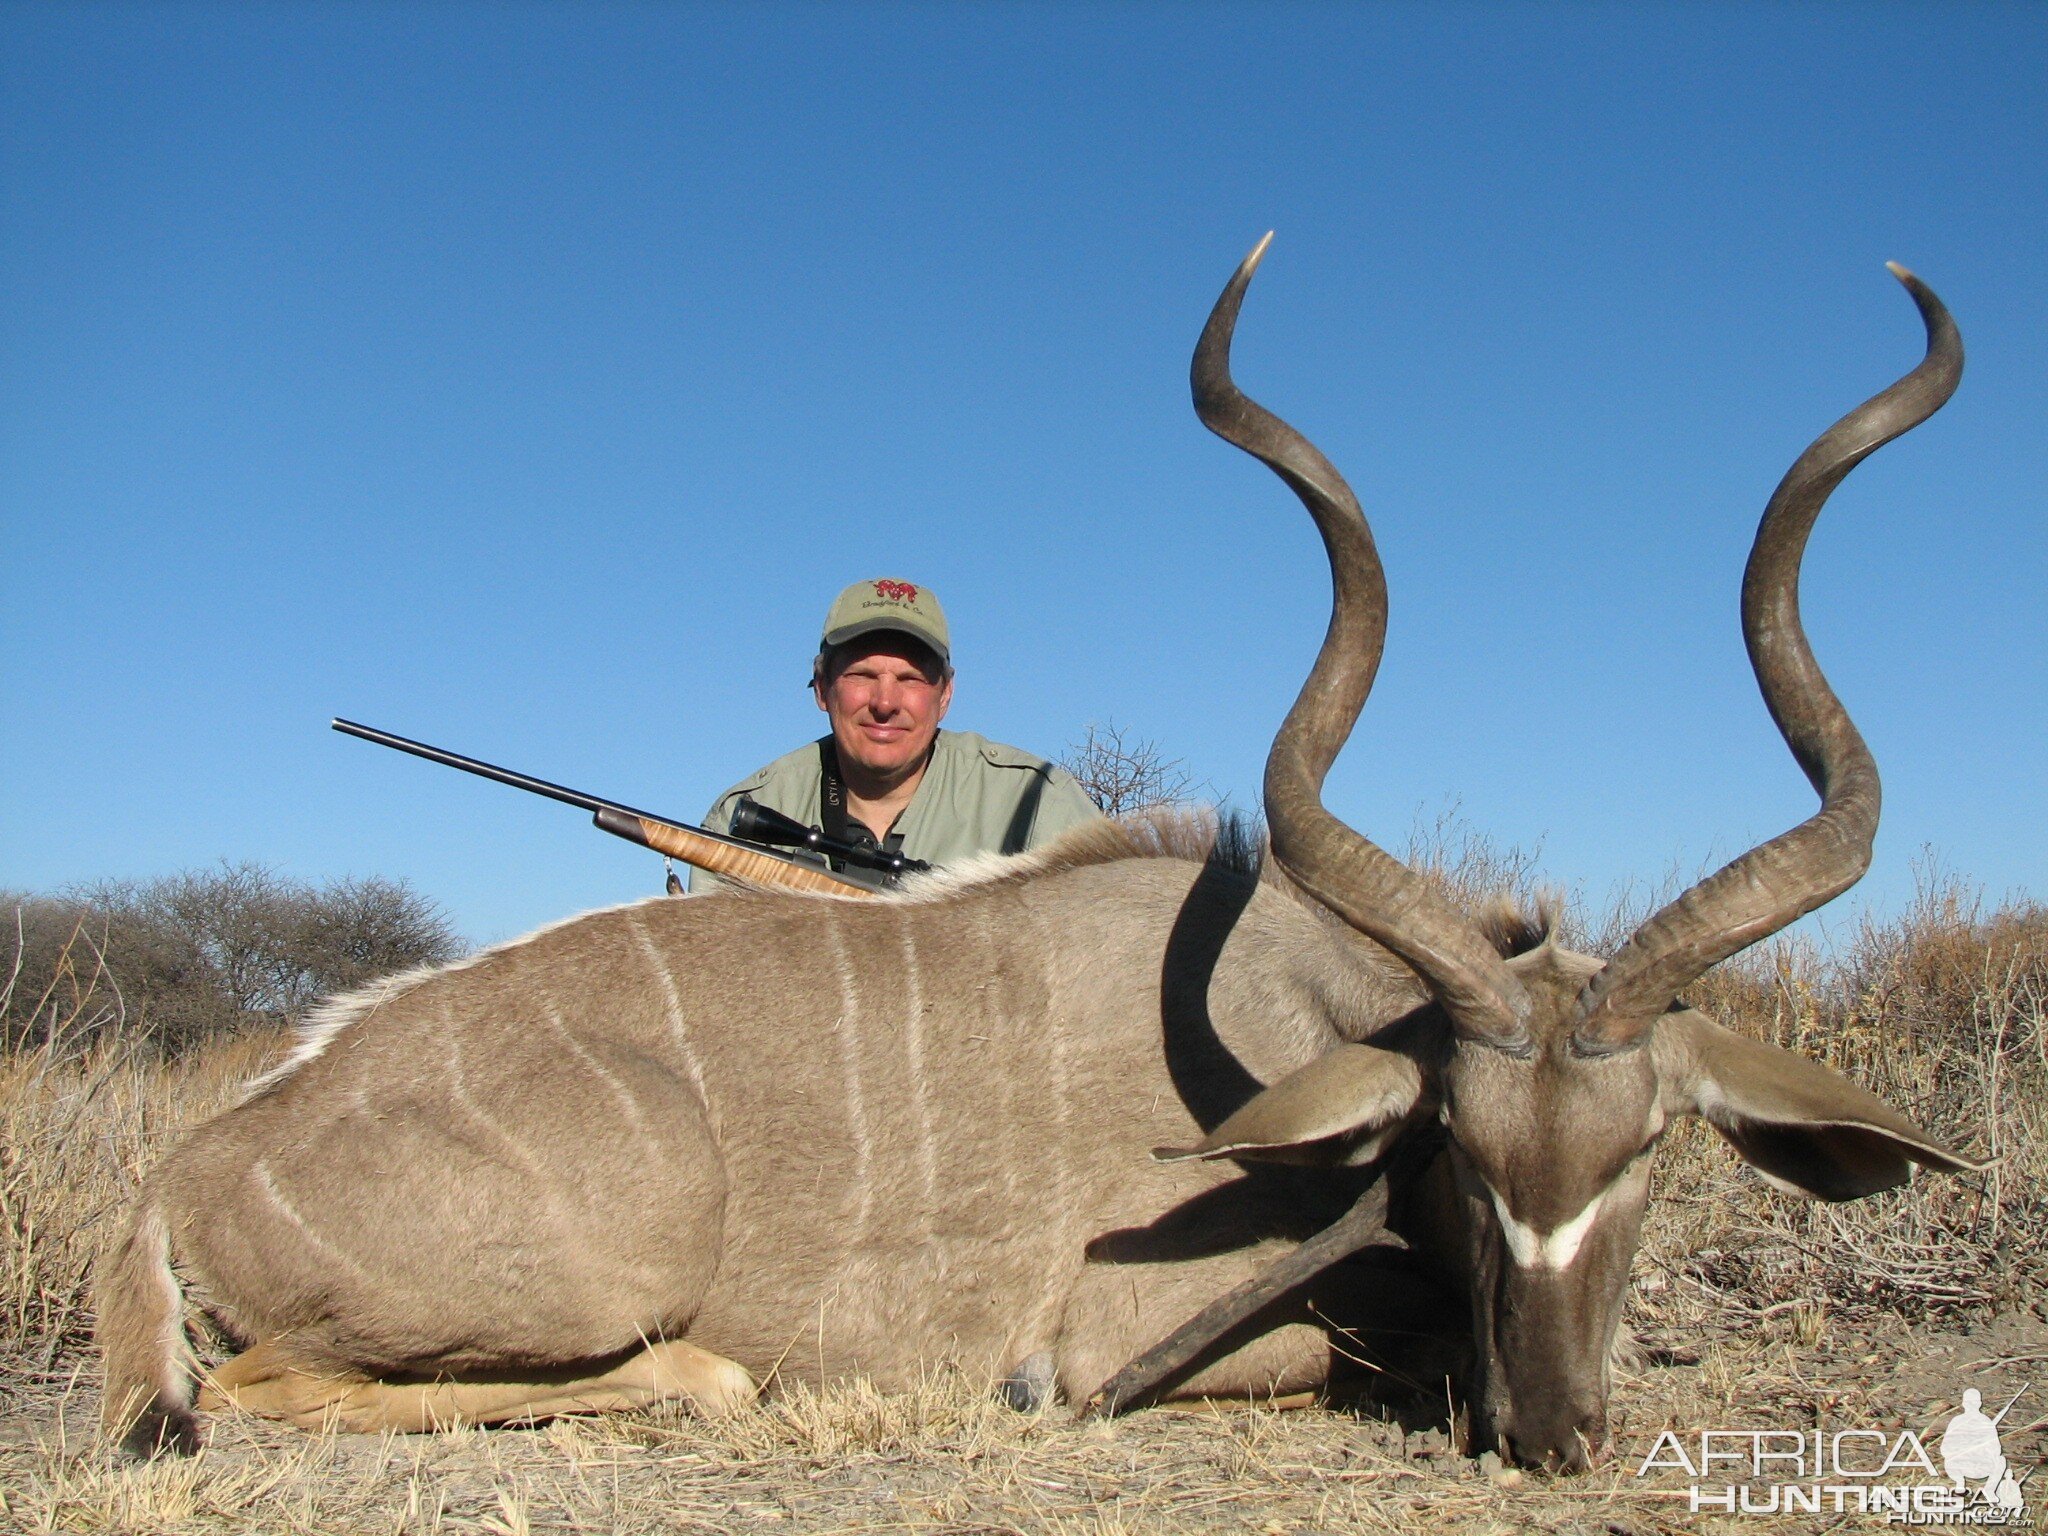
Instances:
[[[1151,1409],[1081,1423],[1022,1415],[942,1372],[918,1393],[793,1391],[733,1419],[559,1419],[438,1436],[303,1436],[221,1419],[205,1454],[115,1466],[84,1380],[10,1393],[6,1532],[1778,1532],[1874,1530],[1882,1516],[1690,1509],[1683,1473],[1636,1468],[1661,1430],[1915,1430],[1929,1448],[1964,1386],[1995,1411],[2048,1528],[2048,1321],[1829,1323],[1800,1309],[1686,1337],[1638,1333],[1618,1378],[1616,1458],[1577,1479],[1456,1454],[1448,1411],[1393,1405]],[[2025,1391],[2021,1391],[2025,1389]],[[1403,1423],[1405,1421],[1405,1423]],[[1761,1487],[1761,1485],[1759,1485]]]

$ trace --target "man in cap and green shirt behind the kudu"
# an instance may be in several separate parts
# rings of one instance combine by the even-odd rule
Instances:
[[[1102,815],[1044,758],[938,729],[952,705],[952,641],[930,588],[887,578],[846,588],[825,614],[811,694],[831,733],[741,778],[705,827],[729,831],[745,795],[831,838],[956,864],[1036,848]],[[709,885],[692,870],[692,889]]]

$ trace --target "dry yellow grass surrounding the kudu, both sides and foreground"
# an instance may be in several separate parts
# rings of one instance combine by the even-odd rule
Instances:
[[[1442,1413],[1407,1415],[1407,1432],[1262,1407],[1081,1425],[1001,1409],[942,1368],[913,1393],[793,1389],[717,1423],[643,1413],[379,1442],[223,1419],[197,1460],[117,1466],[92,1434],[90,1260],[137,1171],[281,1040],[166,1065],[137,1032],[68,1044],[55,1030],[0,1057],[0,1530],[1769,1530],[1690,1516],[1669,1487],[1638,1483],[1655,1432],[1925,1427],[1966,1382],[1987,1397],[2048,1384],[2048,911],[1982,911],[1933,883],[1835,952],[1774,944],[1696,993],[1997,1161],[1817,1206],[1769,1192],[1710,1133],[1673,1135],[1636,1266],[1645,1348],[1618,1386],[1622,1456],[1569,1483],[1452,1454]],[[2042,1399],[2007,1436],[2030,1456]]]

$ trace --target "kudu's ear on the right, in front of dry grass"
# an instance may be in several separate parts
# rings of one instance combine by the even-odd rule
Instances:
[[[1702,1116],[1790,1194],[1858,1200],[1905,1184],[1913,1163],[1946,1174],[1980,1167],[1841,1073],[1690,1008],[1657,1020],[1653,1049],[1665,1110]]]

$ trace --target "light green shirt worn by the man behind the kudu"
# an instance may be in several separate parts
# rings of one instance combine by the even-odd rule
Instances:
[[[741,795],[815,827],[823,788],[817,741],[811,741],[725,791],[705,813],[705,829],[731,831],[733,803]],[[903,834],[901,852],[909,858],[958,864],[973,854],[1038,848],[1100,815],[1065,768],[973,731],[940,731],[918,793],[887,831]],[[715,885],[715,877],[690,870],[692,891]]]

